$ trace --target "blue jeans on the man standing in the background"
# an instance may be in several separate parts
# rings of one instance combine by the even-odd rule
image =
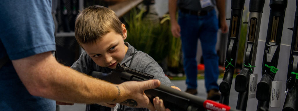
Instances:
[[[201,41],[205,65],[206,90],[218,89],[218,56],[215,51],[218,19],[213,9],[205,16],[190,15],[179,11],[178,23],[181,28],[181,41],[183,51],[183,65],[187,76],[187,88],[197,88],[197,44]]]

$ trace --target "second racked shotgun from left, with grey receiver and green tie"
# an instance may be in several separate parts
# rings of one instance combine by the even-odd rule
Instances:
[[[246,50],[244,51],[243,68],[235,78],[235,91],[238,92],[236,109],[238,110],[245,111],[247,106],[249,76],[253,73],[255,67],[264,4],[265,0],[249,1],[249,25],[245,42]]]

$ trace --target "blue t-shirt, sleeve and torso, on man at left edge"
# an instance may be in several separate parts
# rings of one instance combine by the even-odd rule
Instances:
[[[55,51],[51,0],[2,0],[0,4],[0,58],[10,60]],[[0,68],[0,109],[55,111],[55,101],[32,96],[13,65]]]

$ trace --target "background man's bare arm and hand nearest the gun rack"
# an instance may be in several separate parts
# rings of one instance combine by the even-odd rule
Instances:
[[[226,0],[216,0],[216,7],[219,13],[221,32],[227,33],[228,25],[226,24]]]

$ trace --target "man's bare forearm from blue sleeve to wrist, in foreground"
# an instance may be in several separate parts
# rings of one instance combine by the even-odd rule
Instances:
[[[59,64],[50,52],[12,62],[21,81],[34,96],[63,102],[96,103],[111,102],[125,93],[119,85]]]

